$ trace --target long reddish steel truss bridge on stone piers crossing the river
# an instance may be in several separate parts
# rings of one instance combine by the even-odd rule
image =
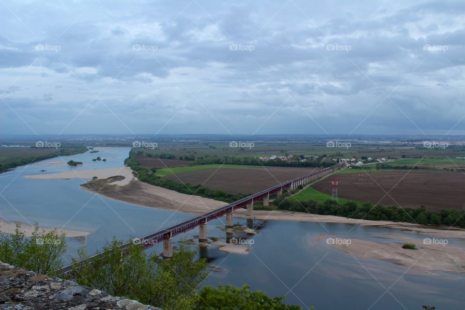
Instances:
[[[250,195],[246,198],[240,199],[238,201],[229,203],[222,207],[219,207],[215,210],[205,212],[201,215],[196,217],[192,217],[186,219],[180,223],[171,225],[167,228],[161,229],[156,231],[155,233],[149,233],[144,235],[140,238],[135,238],[130,242],[125,243],[121,246],[121,250],[123,252],[127,252],[127,248],[129,248],[133,243],[142,244],[144,249],[151,248],[158,243],[163,242],[163,257],[164,258],[171,258],[173,257],[173,249],[171,240],[174,236],[179,235],[181,233],[185,233],[190,231],[196,227],[199,227],[199,241],[206,241],[207,237],[207,222],[217,219],[218,217],[226,216],[226,227],[233,226],[233,212],[234,210],[241,209],[247,207],[247,215],[253,215],[253,202],[258,200],[263,200],[263,205],[268,206],[270,203],[270,196],[277,194],[278,197],[282,195],[282,190],[286,189],[289,191],[294,190],[299,185],[306,185],[310,182],[316,181],[327,174],[334,172],[337,169],[337,165],[331,166],[319,171],[314,171],[309,174],[297,177],[293,180],[286,181],[281,183],[277,186],[273,186],[262,190],[256,194]],[[92,263],[93,259],[98,256],[103,255],[103,253],[99,253],[93,256],[90,256],[81,263]],[[63,267],[58,273],[68,273],[72,270],[72,264]]]

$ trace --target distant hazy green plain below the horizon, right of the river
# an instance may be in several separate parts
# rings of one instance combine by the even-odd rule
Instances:
[[[249,138],[248,138],[249,139]],[[230,141],[171,141],[159,142],[156,149],[146,149],[142,154],[157,156],[161,154],[171,154],[176,158],[193,160],[202,156],[269,156],[279,154],[321,156],[334,155],[339,157],[367,156],[373,158],[393,158],[404,157],[426,158],[447,157],[454,159],[465,155],[465,148],[462,145],[450,145],[446,149],[424,148],[418,143],[391,141],[360,141],[357,139],[344,140],[350,143],[350,147],[327,147],[327,140],[251,140],[250,147],[232,147]],[[253,145],[253,146],[252,146]]]

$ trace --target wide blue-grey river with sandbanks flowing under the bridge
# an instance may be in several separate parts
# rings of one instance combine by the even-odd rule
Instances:
[[[92,232],[85,242],[68,240],[67,259],[75,256],[84,243],[93,252],[114,236],[128,240],[192,217],[94,195],[79,188],[87,180],[24,178],[36,173],[120,167],[129,153],[129,148],[96,149],[100,152],[52,158],[0,174],[0,217]],[[92,158],[97,155],[107,158],[107,162],[93,162]],[[66,165],[70,159],[82,161],[84,165],[70,168]],[[223,222],[224,219],[209,222],[208,235],[225,238],[225,233],[217,229]],[[286,303],[300,304],[303,309],[314,306],[316,310],[419,310],[422,305],[435,306],[438,310],[465,308],[464,274],[425,275],[394,263],[356,259],[326,245],[324,240],[317,240],[320,234],[330,234],[392,242],[385,235],[400,234],[418,238],[420,243],[424,235],[389,228],[357,226],[352,229],[353,225],[348,224],[252,222],[237,218],[234,222],[253,225],[259,230],[256,235],[242,236],[253,240],[249,253],[231,254],[213,246],[202,248],[199,255],[217,266],[209,268],[209,276],[202,285],[247,283],[252,290],[263,290],[273,296],[287,295]],[[195,229],[182,237],[191,239],[197,234]],[[459,239],[449,239],[449,244],[465,247],[465,242]],[[161,245],[153,250],[161,252]]]

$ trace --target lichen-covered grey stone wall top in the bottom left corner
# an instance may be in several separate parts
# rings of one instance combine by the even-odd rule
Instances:
[[[0,310],[161,310],[0,262]]]

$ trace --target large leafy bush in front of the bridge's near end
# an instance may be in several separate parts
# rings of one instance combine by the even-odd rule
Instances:
[[[86,248],[79,249],[73,259],[73,276],[81,285],[125,296],[165,310],[194,309],[198,301],[196,287],[205,279],[206,262],[194,261],[196,251],[181,245],[167,261],[154,252],[147,256],[140,244],[132,244],[123,255],[122,242],[113,239],[103,255],[92,264],[82,262],[89,257]]]

